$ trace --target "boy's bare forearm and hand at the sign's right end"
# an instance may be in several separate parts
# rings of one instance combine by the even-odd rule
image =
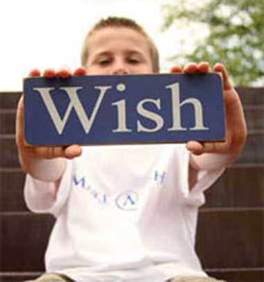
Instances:
[[[181,71],[174,68],[174,72]],[[209,64],[190,63],[183,69],[184,73],[206,73],[209,71]],[[225,116],[226,116],[226,139],[224,142],[204,142],[188,141],[186,147],[191,152],[190,158],[190,184],[192,187],[197,179],[199,170],[218,170],[232,164],[242,152],[246,136],[247,127],[243,107],[238,93],[232,87],[229,76],[223,64],[215,64],[213,71],[222,74]]]

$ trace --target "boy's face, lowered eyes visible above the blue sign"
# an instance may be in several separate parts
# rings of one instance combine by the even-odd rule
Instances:
[[[132,28],[102,28],[88,42],[88,73],[98,75],[152,73],[146,37]]]

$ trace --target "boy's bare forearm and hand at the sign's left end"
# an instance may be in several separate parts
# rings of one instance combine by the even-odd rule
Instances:
[[[76,70],[76,75],[83,75],[80,69]],[[40,76],[38,70],[30,72],[30,77]],[[44,76],[53,78],[60,76],[67,78],[71,73],[65,69],[58,72],[53,70],[44,71]],[[80,146],[68,147],[29,147],[24,143],[24,97],[21,96],[17,106],[16,120],[16,141],[19,153],[19,161],[24,171],[33,178],[46,182],[59,182],[66,166],[66,159],[78,157],[81,154]]]

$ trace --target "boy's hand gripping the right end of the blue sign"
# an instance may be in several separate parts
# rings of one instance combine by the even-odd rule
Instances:
[[[188,63],[181,69],[180,67],[173,67],[173,73],[207,73],[210,71],[208,62],[201,62],[200,64]],[[228,166],[236,160],[240,152],[243,150],[247,136],[247,127],[245,123],[245,116],[243,113],[243,106],[238,96],[238,93],[232,87],[229,81],[229,76],[225,66],[217,63],[213,67],[213,71],[222,74],[225,116],[226,116],[226,137],[224,142],[204,142],[188,141],[186,147],[193,153],[193,158],[197,168],[204,163],[204,153],[219,154],[225,157],[225,166]],[[211,155],[211,154],[205,154]]]

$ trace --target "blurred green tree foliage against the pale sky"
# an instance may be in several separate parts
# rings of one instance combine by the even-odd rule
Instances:
[[[196,42],[192,53],[175,55],[173,63],[223,62],[235,85],[263,83],[263,0],[175,0],[163,11],[164,30],[174,25],[181,28],[182,23],[209,28],[209,35]]]

